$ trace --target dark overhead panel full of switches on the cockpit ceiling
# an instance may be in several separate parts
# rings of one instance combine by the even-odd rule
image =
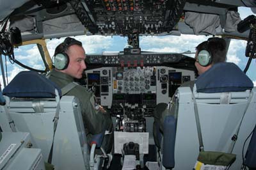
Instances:
[[[97,30],[101,35],[126,36],[134,33],[157,35],[172,31],[179,22],[186,1],[95,0],[84,3],[92,15],[84,17],[90,19],[86,23],[92,23],[89,31]],[[89,14],[86,10],[84,12]]]

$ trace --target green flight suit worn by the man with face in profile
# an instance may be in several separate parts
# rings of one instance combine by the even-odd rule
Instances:
[[[49,79],[55,82],[60,88],[67,86],[70,82],[74,82],[73,77],[56,70],[52,70],[49,73]],[[95,109],[94,94],[92,91],[89,91],[88,88],[84,88],[77,84],[77,86],[68,91],[66,95],[77,97],[81,103],[83,123],[89,144],[92,135],[100,134],[105,130],[110,130],[112,132],[111,135],[104,136],[102,143],[104,150],[109,153],[113,146],[113,123],[110,114],[102,113]]]

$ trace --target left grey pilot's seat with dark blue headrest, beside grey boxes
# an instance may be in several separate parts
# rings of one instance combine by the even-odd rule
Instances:
[[[31,134],[31,142],[42,149],[45,162],[52,160],[55,169],[90,169],[90,152],[77,98],[60,98],[60,89],[36,72],[20,72],[3,94],[7,114],[17,132]],[[4,131],[7,127],[2,128]]]

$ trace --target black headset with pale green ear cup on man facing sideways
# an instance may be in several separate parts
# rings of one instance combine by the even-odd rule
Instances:
[[[54,54],[53,64],[57,70],[65,70],[68,67],[69,56],[66,53],[66,50],[71,45],[79,45],[82,47],[81,42],[77,41],[74,38],[67,37],[67,38],[65,38],[63,45],[61,45],[62,47],[60,47],[60,45],[59,45],[56,48],[56,51],[55,51],[56,54]]]

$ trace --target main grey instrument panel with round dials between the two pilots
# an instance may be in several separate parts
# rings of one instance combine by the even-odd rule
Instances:
[[[175,90],[195,73],[168,66],[109,66],[86,70],[87,87],[95,89],[98,102],[122,114],[126,108],[143,109],[152,116],[157,104],[168,103]]]

